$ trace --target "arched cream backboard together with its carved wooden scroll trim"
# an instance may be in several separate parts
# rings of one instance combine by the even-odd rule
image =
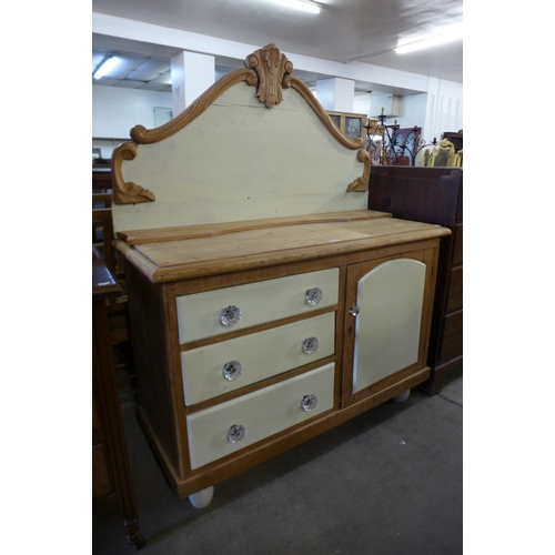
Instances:
[[[213,83],[163,125],[135,125],[131,141],[114,150],[114,204],[141,206],[155,202],[155,208],[117,210],[118,218],[131,219],[131,214],[140,213],[143,219],[148,214],[149,222],[141,221],[141,226],[181,225],[198,220],[204,223],[202,219],[212,214],[212,205],[206,210],[206,199],[216,202],[220,196],[229,199],[225,205],[234,205],[240,212],[255,210],[258,214],[299,212],[299,203],[306,203],[306,210],[313,211],[309,201],[312,195],[316,196],[314,202],[326,208],[336,202],[347,203],[346,208],[337,205],[337,210],[359,208],[361,201],[353,200],[359,195],[340,196],[334,188],[339,185],[342,192],[367,191],[370,158],[363,140],[349,138],[333,123],[306,84],[292,74],[293,63],[275,44],[252,52],[244,64]],[[282,102],[287,104],[286,110],[261,113]],[[334,141],[330,142],[323,130]],[[266,162],[261,162],[264,149],[269,155],[264,157]],[[290,161],[286,179],[280,178],[284,160]],[[357,169],[361,162],[362,175]],[[242,178],[246,168],[258,168],[260,184],[255,184],[255,178]],[[306,181],[310,173],[319,175],[314,179],[317,194]],[[230,188],[230,182],[234,186]],[[291,185],[293,182],[296,184]],[[265,195],[261,195],[263,189],[268,189]],[[286,208],[273,208],[276,195]],[[285,200],[287,195],[295,202]],[[254,199],[256,208],[250,209]],[[195,212],[196,204],[203,209]],[[241,215],[246,216],[250,213]]]

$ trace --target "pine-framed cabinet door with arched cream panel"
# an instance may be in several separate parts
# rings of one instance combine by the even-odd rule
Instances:
[[[345,400],[356,402],[425,366],[432,251],[349,266]]]

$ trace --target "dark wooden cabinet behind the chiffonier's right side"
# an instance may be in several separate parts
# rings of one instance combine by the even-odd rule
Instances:
[[[369,209],[452,231],[441,241],[425,383],[437,393],[463,370],[463,170],[373,167]]]

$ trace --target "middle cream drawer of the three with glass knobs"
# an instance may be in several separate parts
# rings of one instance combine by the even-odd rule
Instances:
[[[303,342],[311,337],[317,339],[317,349],[307,353],[303,350]],[[190,406],[331,356],[335,351],[334,343],[335,312],[330,312],[185,351],[181,353],[185,404]],[[230,371],[232,365],[229,363],[233,362],[241,364],[240,374]],[[226,364],[228,377],[224,376]]]

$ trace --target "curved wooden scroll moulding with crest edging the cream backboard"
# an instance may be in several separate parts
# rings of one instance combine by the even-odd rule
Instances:
[[[362,148],[362,139],[350,139],[337,129],[310,89],[300,79],[291,75],[293,63],[280,52],[278,47],[275,44],[266,44],[264,48],[256,50],[246,57],[245,65],[246,68],[233,70],[222,79],[219,79],[183,112],[168,123],[150,130],[143,125],[135,125],[131,130],[132,141],[122,143],[114,150],[112,155],[112,185],[115,204],[137,204],[155,201],[155,195],[152,191],[137,183],[125,182],[123,179],[121,164],[124,160],[133,160],[137,157],[139,144],[151,144],[176,133],[204,112],[223,92],[242,81],[246,81],[250,87],[256,87],[256,98],[269,109],[283,100],[282,88],[295,89],[306,100],[320,121],[336,141],[347,149],[360,149],[356,159],[359,162],[364,163],[363,175],[353,181],[347,186],[347,191],[367,191],[370,155]]]

